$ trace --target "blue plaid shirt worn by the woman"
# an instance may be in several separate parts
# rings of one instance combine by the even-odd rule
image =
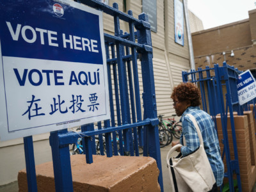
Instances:
[[[220,144],[217,132],[212,122],[211,116],[205,111],[200,110],[199,107],[189,107],[182,114],[180,121],[182,122],[182,134],[180,136],[180,143],[183,143],[183,137],[186,138],[186,146],[180,148],[182,156],[186,156],[195,151],[200,146],[200,141],[196,132],[196,128],[189,116],[195,116],[198,127],[200,128],[202,138],[204,140],[204,148],[212,167],[212,172],[216,180],[217,186],[221,186],[224,177],[224,164],[220,155]]]

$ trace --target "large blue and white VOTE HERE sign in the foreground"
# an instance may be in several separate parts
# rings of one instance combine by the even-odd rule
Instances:
[[[110,118],[102,12],[1,1],[0,58],[1,140]]]

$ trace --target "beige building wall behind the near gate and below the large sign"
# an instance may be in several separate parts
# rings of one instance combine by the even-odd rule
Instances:
[[[109,6],[112,6],[114,2],[118,3],[120,11],[125,11],[124,1],[109,0]],[[151,33],[157,115],[164,115],[164,118],[171,117],[175,113],[172,99],[170,99],[172,88],[182,82],[182,70],[190,69],[185,17],[184,46],[175,44],[173,2],[173,0],[157,0],[157,33]],[[133,16],[138,18],[142,12],[142,0],[127,0],[126,13],[128,10],[132,10]],[[103,22],[104,33],[114,35],[113,17],[104,13]],[[129,31],[129,26],[121,20],[120,28],[124,32]],[[142,81],[139,61],[138,65],[139,79]],[[140,93],[142,92],[141,85]],[[35,164],[52,161],[49,134],[33,136],[33,140]],[[18,171],[25,167],[23,139],[0,141],[0,186],[17,180]]]

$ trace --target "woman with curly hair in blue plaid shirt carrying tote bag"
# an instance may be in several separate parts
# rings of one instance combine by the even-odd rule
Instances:
[[[178,149],[182,156],[191,154],[200,146],[196,128],[186,114],[195,116],[204,140],[204,149],[216,180],[216,184],[214,184],[211,191],[218,191],[217,186],[221,186],[223,182],[224,165],[221,160],[218,136],[211,116],[199,108],[200,93],[198,88],[193,83],[180,83],[173,88],[171,98],[173,99],[175,112],[177,116],[181,116],[180,121],[182,122],[180,141],[173,141],[172,146],[177,145],[177,143],[182,144],[183,146]],[[183,138],[186,139],[186,146],[184,146]]]

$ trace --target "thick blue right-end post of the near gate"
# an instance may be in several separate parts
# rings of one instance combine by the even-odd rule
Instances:
[[[145,13],[139,15],[140,20],[148,22],[148,17]],[[156,122],[152,122],[151,125],[147,125],[148,131],[147,143],[149,156],[154,157],[159,168],[158,182],[163,191],[163,175],[161,165],[161,152],[159,145],[159,132],[158,132],[158,118],[156,110],[156,93],[154,86],[154,72],[153,72],[153,61],[152,61],[152,46],[151,46],[151,35],[150,29],[139,29],[140,36],[138,36],[138,42],[144,44],[145,51],[141,51],[141,72],[143,81],[143,106],[145,118],[156,119]]]

